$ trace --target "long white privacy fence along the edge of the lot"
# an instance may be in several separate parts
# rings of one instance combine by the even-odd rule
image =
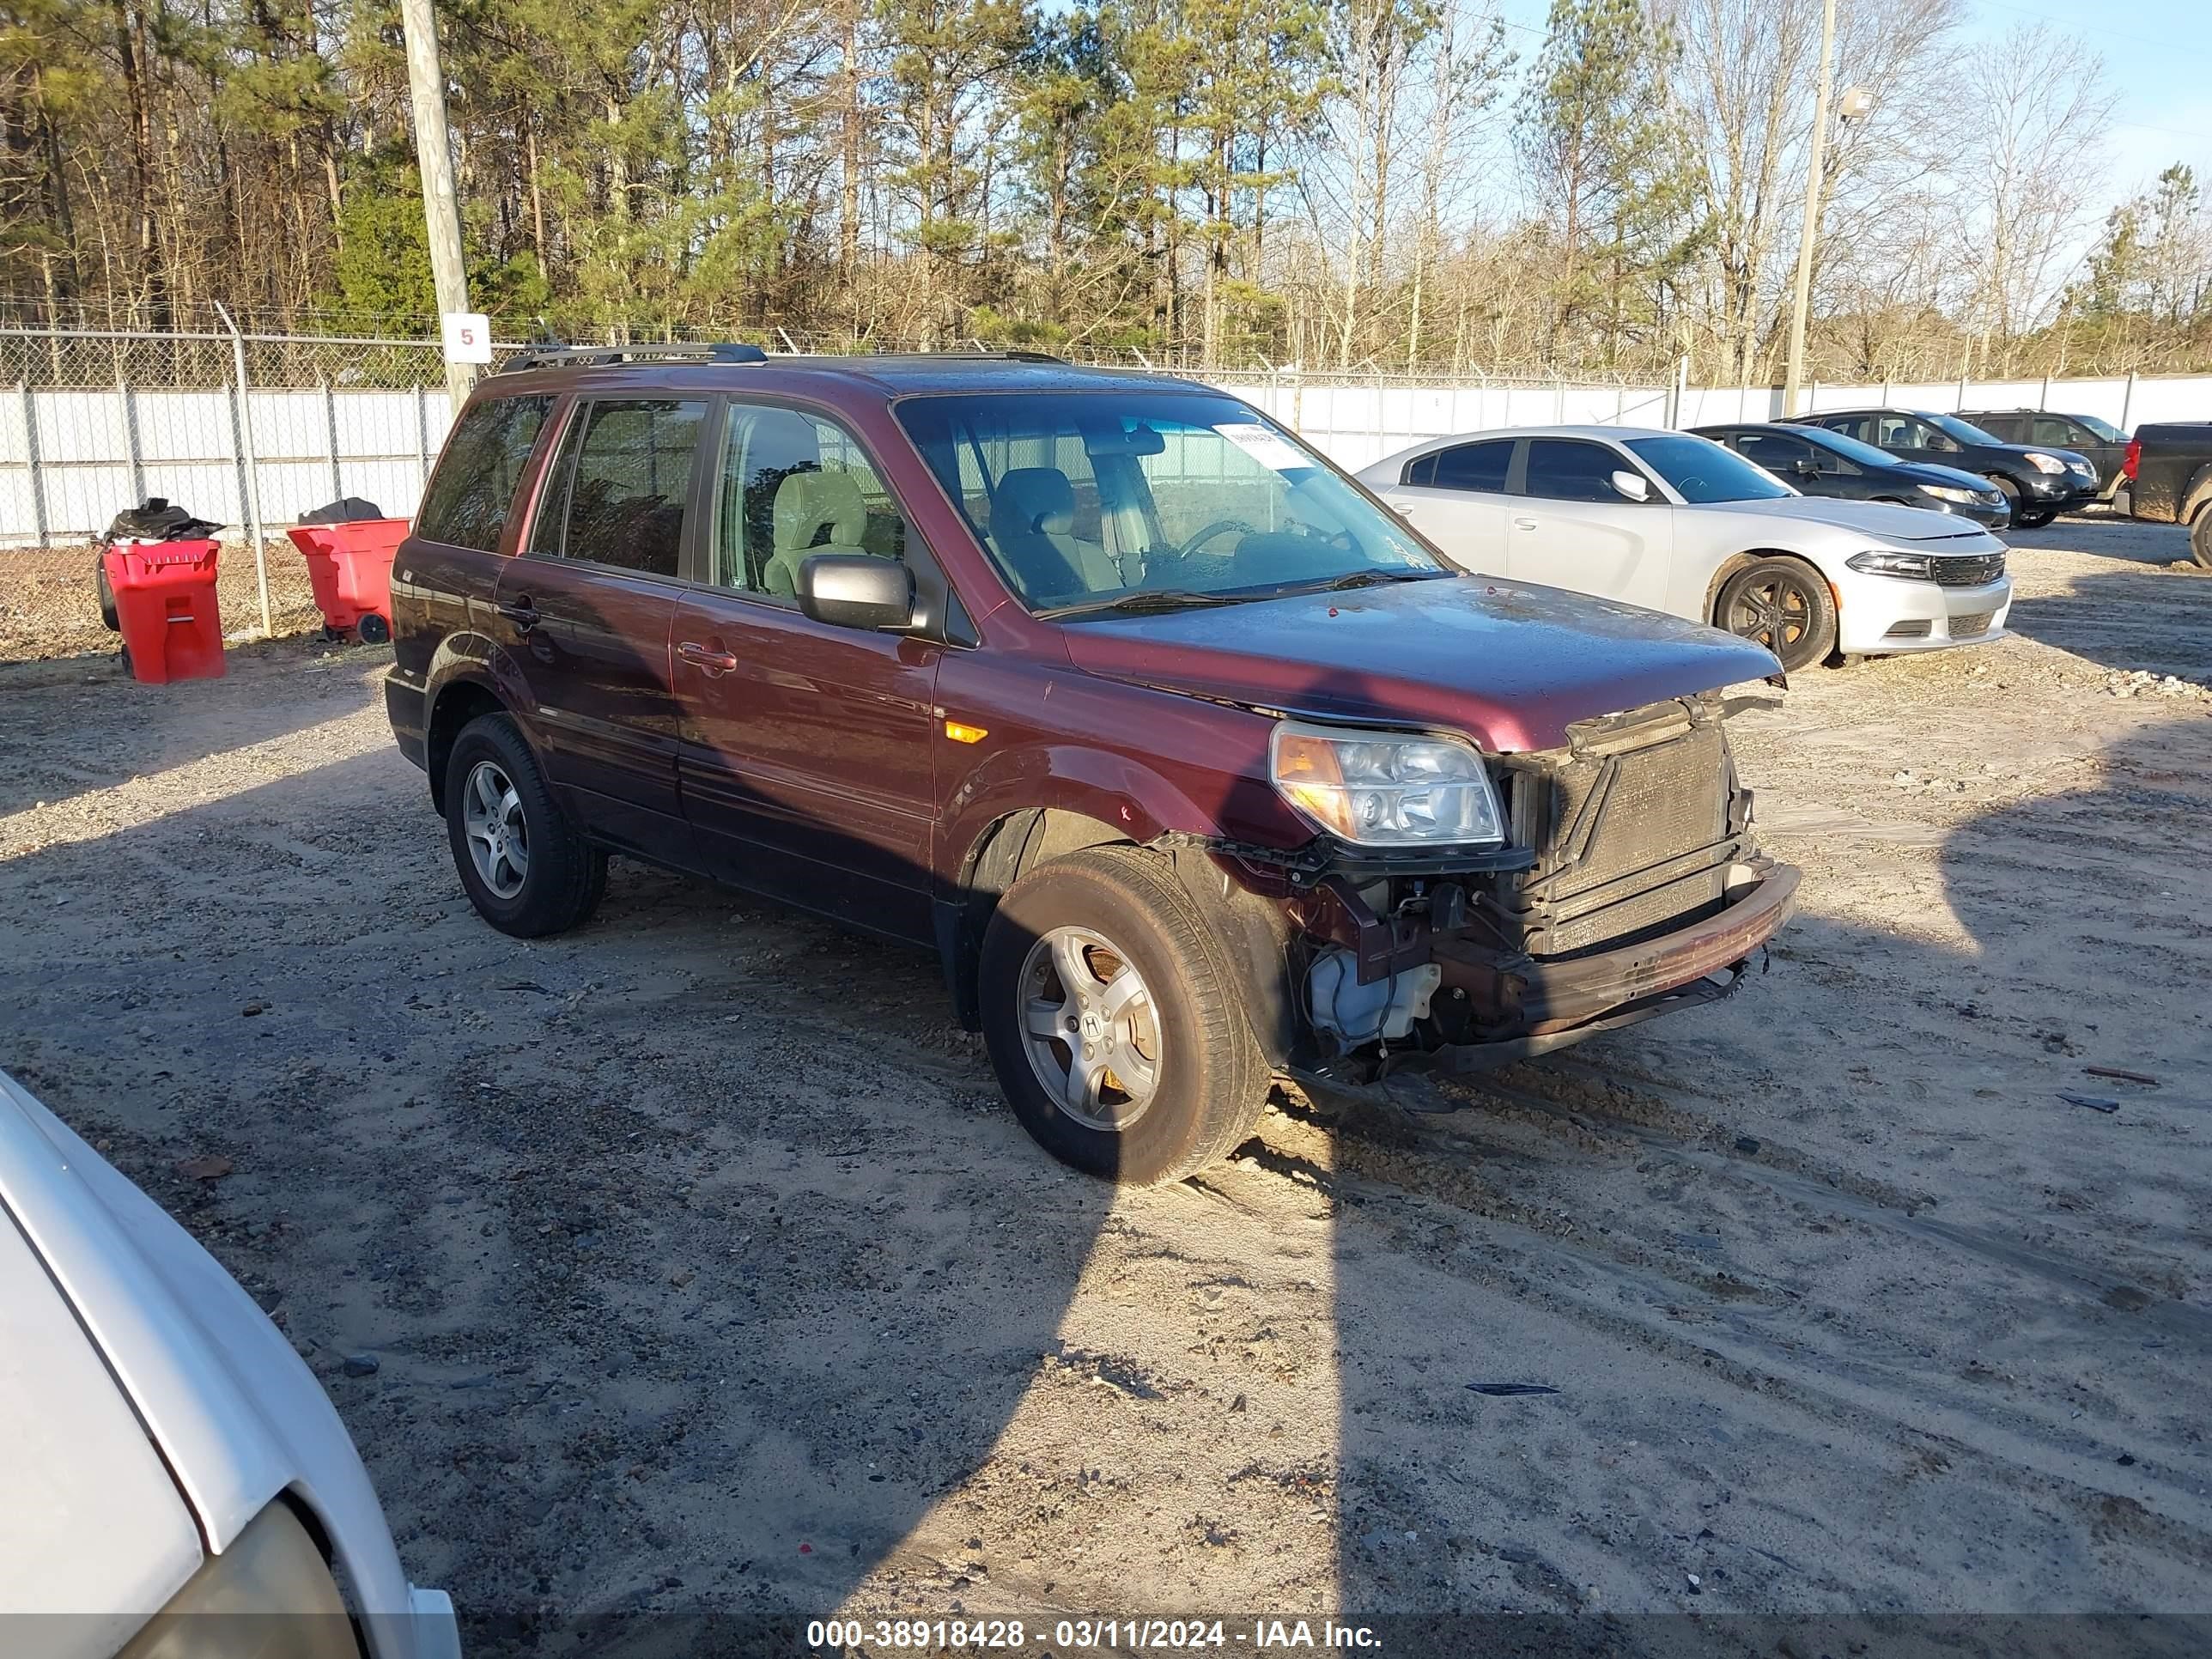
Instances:
[[[1491,427],[1694,427],[1781,414],[1772,387],[1250,369],[1208,378],[1343,467]],[[1807,387],[1812,409],[1869,403],[2062,409],[2132,429],[2212,418],[2212,376]],[[82,544],[146,495],[272,535],[341,495],[414,513],[449,420],[436,343],[0,330],[0,546]]]

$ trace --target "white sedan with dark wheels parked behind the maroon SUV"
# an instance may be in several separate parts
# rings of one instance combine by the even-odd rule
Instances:
[[[1785,670],[1997,639],[2013,604],[1969,520],[1801,495],[1688,431],[1473,431],[1360,482],[1469,571],[1712,622]]]

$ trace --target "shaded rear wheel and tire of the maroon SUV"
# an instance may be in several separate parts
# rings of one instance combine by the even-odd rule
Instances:
[[[560,810],[509,714],[480,714],[453,739],[445,830],[469,902],[502,933],[566,933],[599,907],[606,854]]]

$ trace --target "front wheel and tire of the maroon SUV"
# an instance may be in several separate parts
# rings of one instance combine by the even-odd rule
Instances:
[[[991,914],[978,989],[1015,1117],[1077,1170],[1181,1181],[1267,1106],[1237,975],[1157,854],[1093,847],[1022,876]]]

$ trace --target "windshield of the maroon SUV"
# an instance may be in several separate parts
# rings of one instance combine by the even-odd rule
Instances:
[[[1451,571],[1234,398],[902,398],[894,414],[1033,613],[1172,608]]]

